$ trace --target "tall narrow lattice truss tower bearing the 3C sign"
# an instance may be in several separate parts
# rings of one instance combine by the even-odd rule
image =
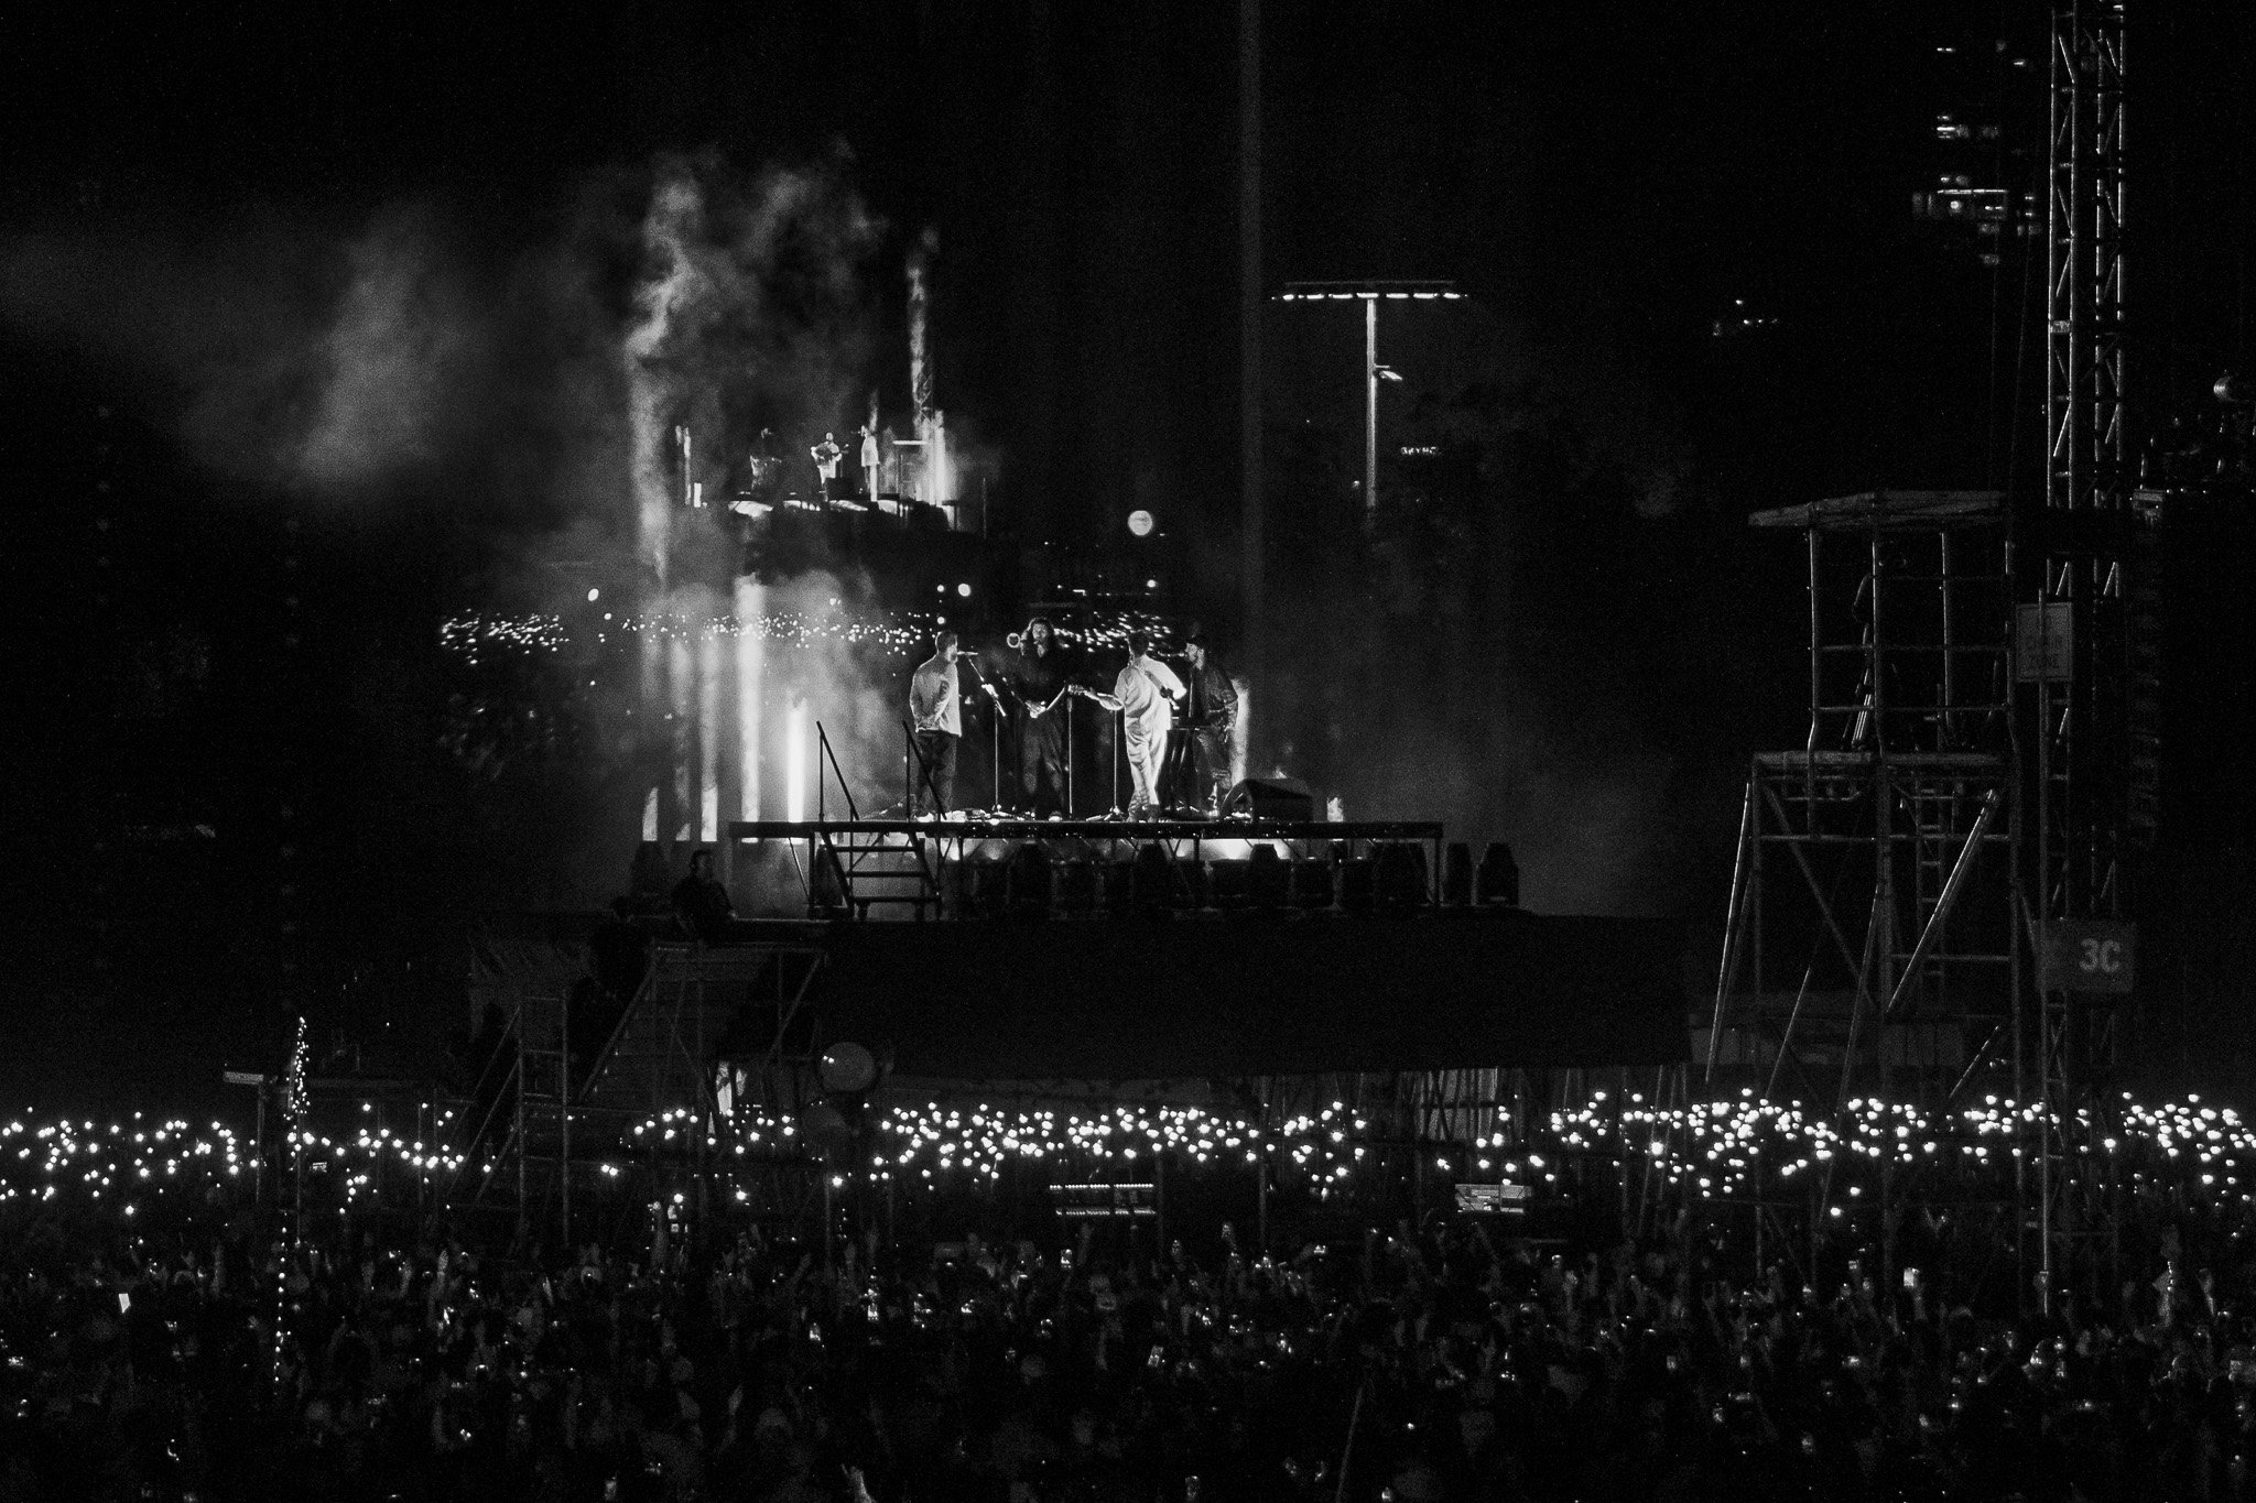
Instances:
[[[2030,910],[2039,1300],[2103,1188],[2071,1172],[2066,1131],[2105,1113],[2127,971],[2087,987],[2046,964],[2062,942],[2132,913],[2136,523],[2123,370],[2123,0],[2060,0],[2051,45],[2046,189],[2046,469],[2035,599],[2021,602],[2021,834]],[[2148,602],[2150,604],[2150,602]],[[2114,931],[2123,933],[2123,931]],[[2098,942],[2098,940],[2094,940]],[[2118,940],[2121,942],[2121,940]],[[2116,987],[2114,982],[2121,982]]]

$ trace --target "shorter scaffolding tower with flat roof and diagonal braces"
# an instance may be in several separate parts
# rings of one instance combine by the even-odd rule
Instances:
[[[1706,1082],[1945,1104],[2019,1059],[2003,498],[1751,521],[1807,550],[1809,728],[1748,771]]]

